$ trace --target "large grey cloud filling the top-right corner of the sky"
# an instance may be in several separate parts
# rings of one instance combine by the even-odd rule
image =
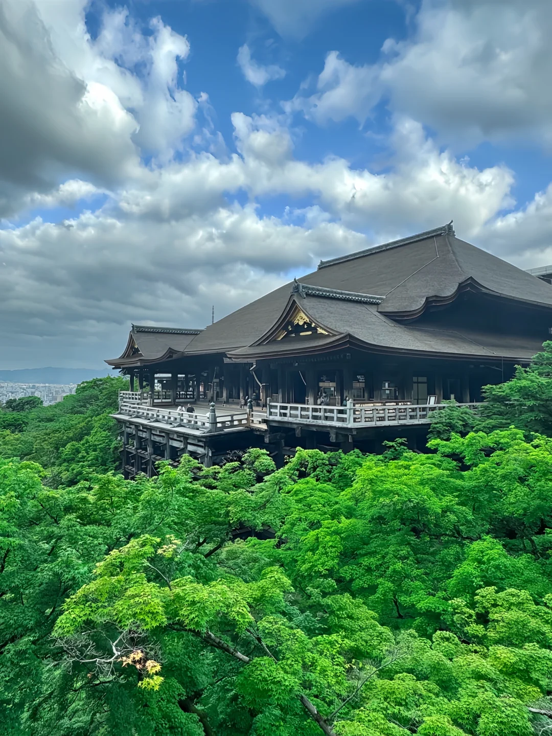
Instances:
[[[530,138],[552,145],[552,4],[548,0],[428,0],[412,38],[383,44],[373,65],[330,52],[316,90],[289,103],[319,124],[364,123],[386,99],[447,141]]]

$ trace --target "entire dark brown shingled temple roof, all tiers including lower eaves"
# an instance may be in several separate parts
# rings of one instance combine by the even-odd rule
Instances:
[[[530,358],[542,339],[487,335],[475,325],[461,330],[422,328],[427,309],[456,300],[463,291],[510,305],[552,311],[552,286],[489,252],[460,240],[452,223],[330,261],[219,319],[205,330],[134,325],[144,361],[169,353],[222,353],[234,360],[297,351],[297,341],[275,338],[291,303],[304,309],[325,334],[303,339],[300,351],[327,350],[344,341],[381,350]],[[552,324],[552,314],[551,314]],[[144,331],[141,331],[144,330]],[[157,330],[157,331],[155,331]],[[271,337],[272,336],[272,337]],[[270,344],[271,340],[277,344]],[[132,357],[129,346],[112,365]]]

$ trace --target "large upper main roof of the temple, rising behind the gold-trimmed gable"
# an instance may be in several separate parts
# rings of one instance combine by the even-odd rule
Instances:
[[[367,297],[379,294],[380,297],[373,297],[374,301],[383,297],[378,311],[382,316],[396,318],[415,316],[428,302],[453,300],[461,286],[467,284],[486,293],[552,308],[552,286],[456,238],[450,224],[323,261],[319,269],[297,282],[305,284],[307,292],[319,286]],[[252,345],[283,313],[292,289],[293,283],[280,286],[209,325],[194,338],[186,353],[222,353]],[[311,297],[307,298],[310,303]],[[342,309],[349,314],[355,311],[354,302],[332,299],[325,303],[330,312],[326,324],[331,328],[340,319]],[[364,333],[365,321],[356,326],[356,331]]]

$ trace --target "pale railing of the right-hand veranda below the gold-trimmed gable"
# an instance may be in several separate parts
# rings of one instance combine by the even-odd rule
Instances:
[[[396,406],[310,406],[308,404],[270,403],[266,419],[294,424],[329,425],[333,427],[381,427],[385,425],[425,424],[447,404],[403,404]],[[475,409],[477,403],[457,404]]]

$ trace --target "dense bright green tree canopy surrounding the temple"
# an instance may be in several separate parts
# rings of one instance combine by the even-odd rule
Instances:
[[[122,378],[0,410],[0,732],[552,735],[552,342],[425,453],[127,481]]]

